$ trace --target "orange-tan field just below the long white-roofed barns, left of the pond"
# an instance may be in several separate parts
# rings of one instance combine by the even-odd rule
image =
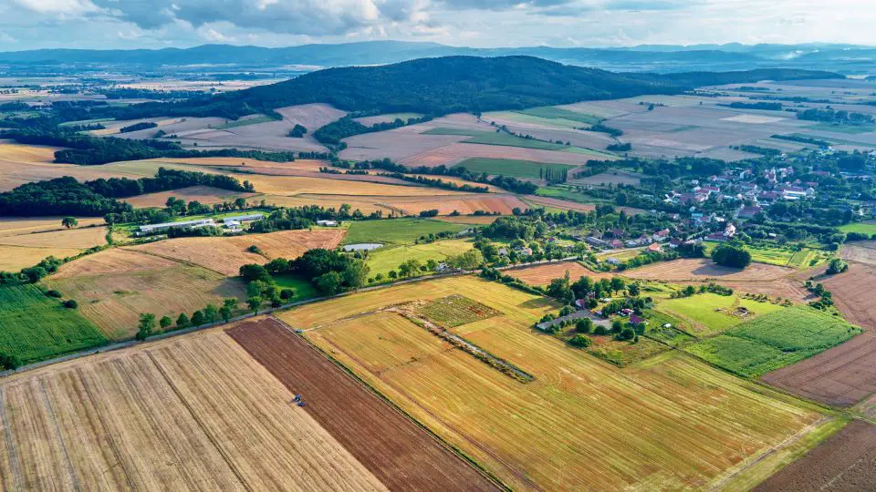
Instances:
[[[314,248],[333,250],[344,237],[343,229],[279,231],[215,238],[177,238],[126,248],[169,260],[193,263],[213,272],[235,276],[249,263],[266,263],[274,258],[293,259]],[[254,245],[264,255],[246,251]]]

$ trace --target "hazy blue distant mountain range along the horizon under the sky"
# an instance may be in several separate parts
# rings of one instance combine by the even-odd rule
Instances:
[[[834,44],[471,48],[435,43],[370,41],[274,48],[203,45],[157,50],[38,49],[4,52],[0,53],[0,64],[233,71],[290,66],[384,65],[436,56],[537,56],[567,65],[661,73],[756,67],[823,68],[844,74],[876,73],[876,47]]]

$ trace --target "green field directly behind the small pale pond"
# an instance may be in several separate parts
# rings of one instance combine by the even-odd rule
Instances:
[[[358,220],[349,225],[343,244],[380,242],[382,244],[413,244],[421,236],[444,231],[463,231],[468,226],[441,220],[382,219]]]

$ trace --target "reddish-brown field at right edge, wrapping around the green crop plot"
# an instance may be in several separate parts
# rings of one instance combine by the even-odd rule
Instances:
[[[825,352],[764,374],[761,380],[797,395],[838,406],[876,393],[876,267],[852,263],[822,281],[840,313],[863,333]]]

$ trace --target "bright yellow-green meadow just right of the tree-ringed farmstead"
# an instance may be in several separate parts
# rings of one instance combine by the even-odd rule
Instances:
[[[738,308],[747,310],[745,317],[734,314]],[[774,313],[782,309],[784,308],[770,302],[756,302],[735,295],[714,293],[669,299],[658,303],[656,307],[656,311],[686,322],[689,325],[687,331],[697,336],[721,333],[761,314]]]

